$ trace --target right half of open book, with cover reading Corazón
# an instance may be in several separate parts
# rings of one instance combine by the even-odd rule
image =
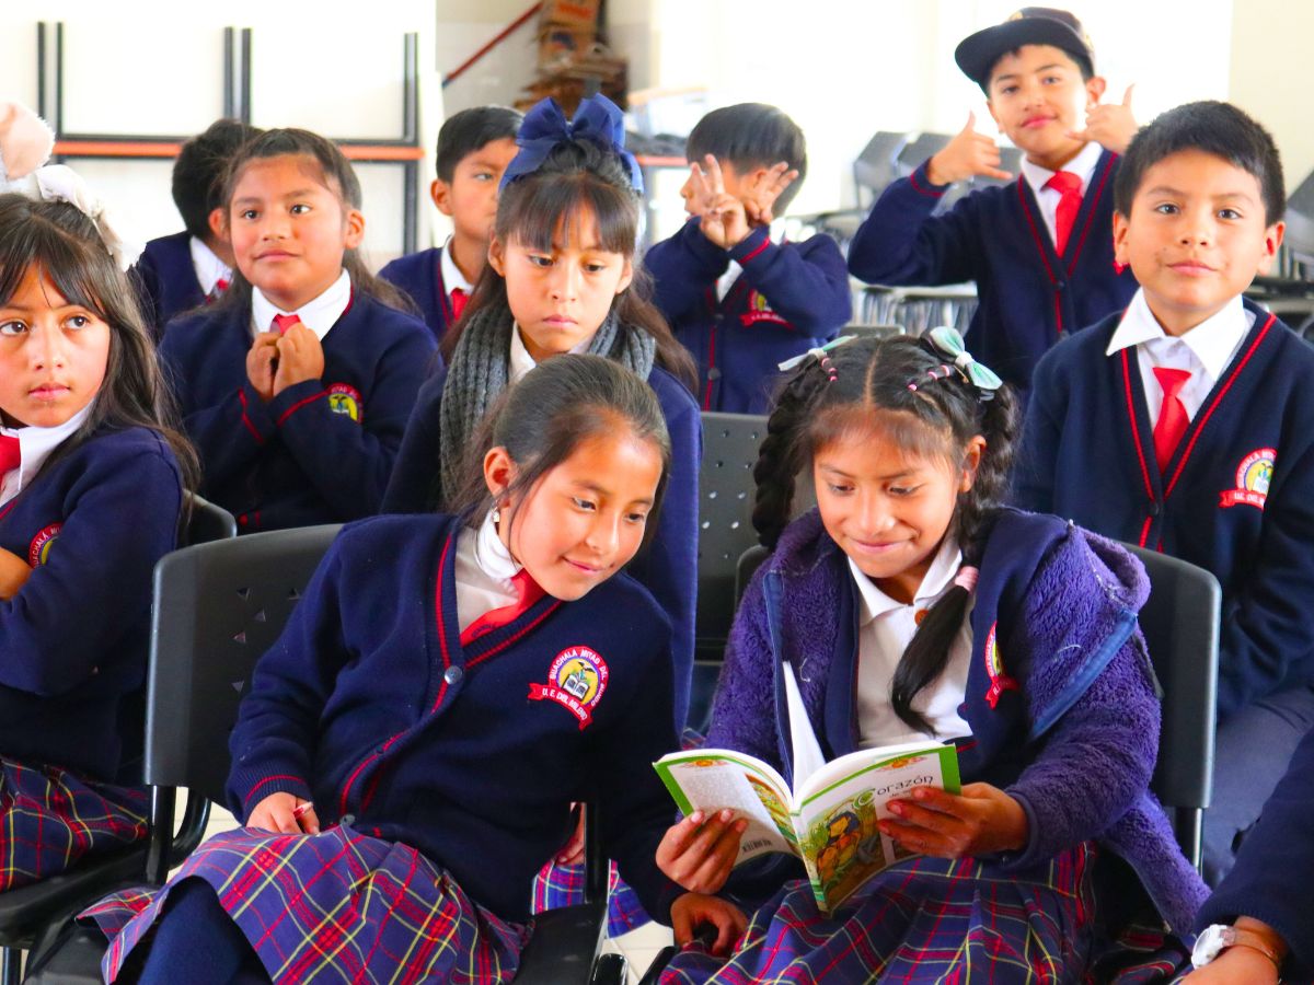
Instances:
[[[827,763],[809,777],[798,808],[799,852],[824,911],[880,869],[912,858],[915,852],[882,834],[878,822],[891,817],[888,802],[913,787],[957,793],[958,751],[938,743],[869,749]]]

